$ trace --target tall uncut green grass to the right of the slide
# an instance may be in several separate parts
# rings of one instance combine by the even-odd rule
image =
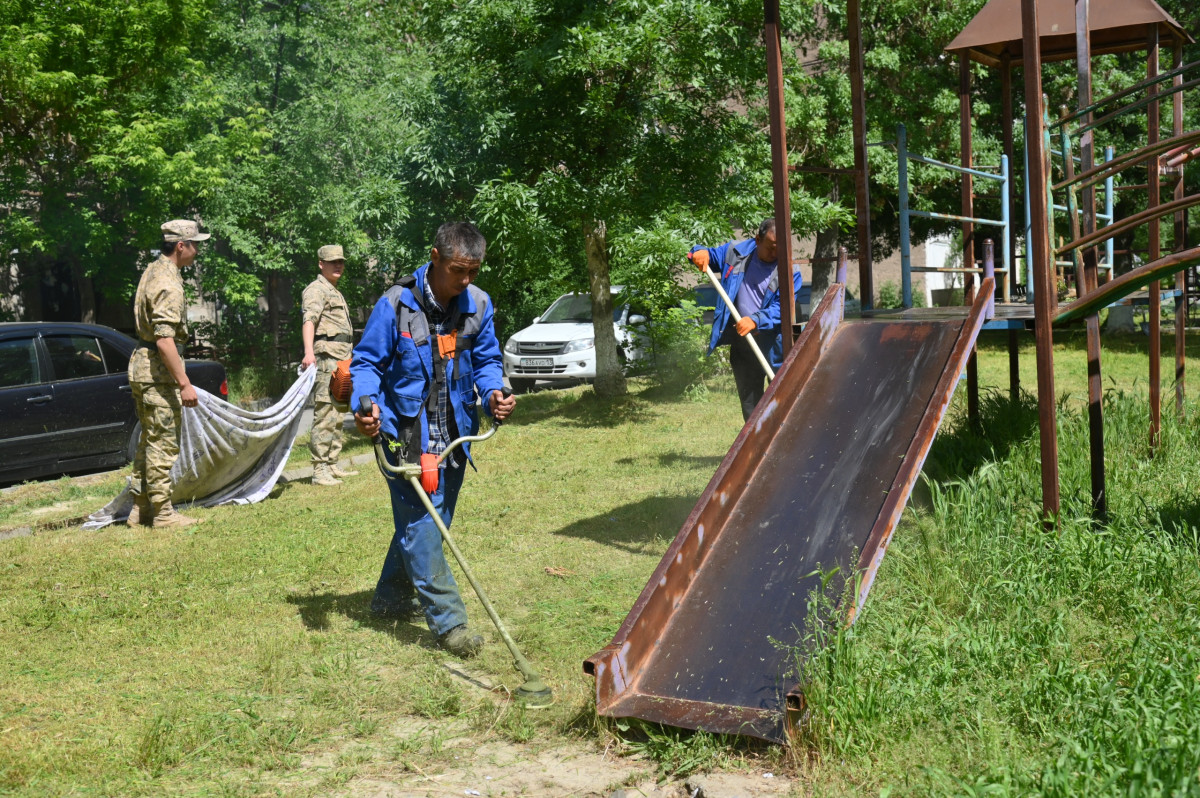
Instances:
[[[828,794],[1200,794],[1200,427],[1105,402],[1111,517],[1087,425],[1060,415],[1063,517],[1039,518],[1031,397],[944,431],[851,630],[810,630],[808,743]],[[997,452],[1001,452],[997,456]],[[952,464],[948,467],[948,464]]]

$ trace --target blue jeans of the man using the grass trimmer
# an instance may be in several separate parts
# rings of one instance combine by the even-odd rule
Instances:
[[[388,461],[396,464],[396,455],[386,450]],[[454,508],[458,502],[466,464],[443,468],[437,492],[430,497],[450,528]],[[383,560],[379,583],[376,584],[373,607],[410,606],[413,596],[425,611],[425,622],[434,635],[444,635],[467,623],[467,608],[458,595],[450,565],[442,548],[442,533],[406,479],[388,480],[391,491],[391,515],[396,533]]]

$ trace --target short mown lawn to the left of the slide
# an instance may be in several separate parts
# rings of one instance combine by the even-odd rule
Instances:
[[[337,490],[294,482],[259,505],[197,510],[204,524],[184,533],[2,544],[0,793],[325,794],[377,767],[436,772],[448,724],[479,739],[599,739],[582,660],[611,640],[740,426],[724,384],[702,403],[635,390],[521,397],[478,446],[456,514],[458,545],[554,690],[550,710],[451,677],[424,623],[368,614],[391,523],[364,469]],[[488,638],[476,667],[516,688],[464,599]],[[412,718],[426,722],[397,737]]]

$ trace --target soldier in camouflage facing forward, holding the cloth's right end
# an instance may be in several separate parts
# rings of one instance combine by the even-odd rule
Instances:
[[[342,454],[342,413],[334,407],[334,400],[329,395],[329,378],[337,367],[337,361],[350,356],[354,343],[350,311],[337,290],[337,281],[346,270],[342,247],[331,244],[317,250],[317,268],[320,269],[320,276],[304,289],[301,328],[301,365],[307,368],[317,364],[308,451],[312,452],[312,484],[341,485],[340,478],[358,474],[356,470],[337,467],[337,457]]]

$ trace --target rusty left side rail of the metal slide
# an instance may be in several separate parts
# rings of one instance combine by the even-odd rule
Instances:
[[[644,650],[635,650],[629,642],[630,635],[634,632],[638,620],[642,618],[646,607],[654,599],[654,595],[659,592],[660,587],[668,583],[673,566],[683,566],[684,546],[695,535],[701,515],[713,502],[713,496],[724,482],[725,475],[728,473],[733,462],[742,454],[746,442],[751,438],[757,438],[763,431],[763,425],[776,413],[786,415],[785,408],[781,407],[782,401],[787,400],[787,409],[790,409],[790,406],[794,403],[796,397],[799,395],[800,389],[812,376],[812,371],[821,360],[821,355],[828,349],[834,335],[838,331],[838,326],[841,324],[845,313],[845,296],[846,287],[844,283],[834,283],[826,292],[821,304],[817,306],[816,311],[814,311],[809,323],[804,328],[804,331],[797,340],[796,346],[792,347],[792,350],[788,353],[787,358],[785,358],[784,365],[779,370],[779,374],[776,374],[775,379],[772,380],[770,385],[768,385],[766,394],[758,402],[758,406],[750,415],[750,419],[742,427],[742,431],[738,433],[738,437],[734,439],[728,452],[726,452],[724,460],[721,460],[721,464],[716,468],[716,473],[713,474],[713,478],[704,487],[703,493],[701,493],[696,505],[688,515],[688,518],[684,521],[683,527],[680,527],[676,539],[662,554],[662,559],[659,562],[658,568],[654,569],[654,574],[647,581],[642,593],[637,596],[637,601],[634,602],[634,606],[630,608],[624,623],[622,623],[617,634],[613,636],[612,642],[583,661],[583,672],[594,677],[596,680],[596,712],[601,715],[612,714],[612,708],[620,700],[622,695],[635,688],[634,674],[638,673],[641,667],[644,665],[646,658],[649,655],[649,648]],[[800,362],[796,364],[797,360]],[[799,371],[793,374],[792,372],[796,370]],[[791,394],[778,396],[782,390],[785,382],[787,383]],[[763,450],[764,446],[751,449],[751,451],[757,452],[758,456],[762,456]],[[733,496],[726,504],[732,506],[736,503],[737,497]],[[697,544],[695,558],[692,562],[688,563],[686,566],[698,570],[703,565],[704,558],[707,557],[714,541],[715,538],[708,541],[707,545],[703,545],[702,548],[701,544]],[[667,700],[660,698],[660,701]]]

